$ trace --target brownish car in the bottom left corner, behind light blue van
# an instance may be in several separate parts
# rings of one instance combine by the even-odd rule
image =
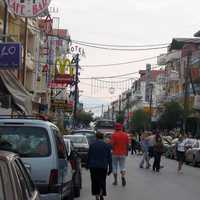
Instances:
[[[0,199],[40,200],[40,195],[18,155],[0,151]]]

